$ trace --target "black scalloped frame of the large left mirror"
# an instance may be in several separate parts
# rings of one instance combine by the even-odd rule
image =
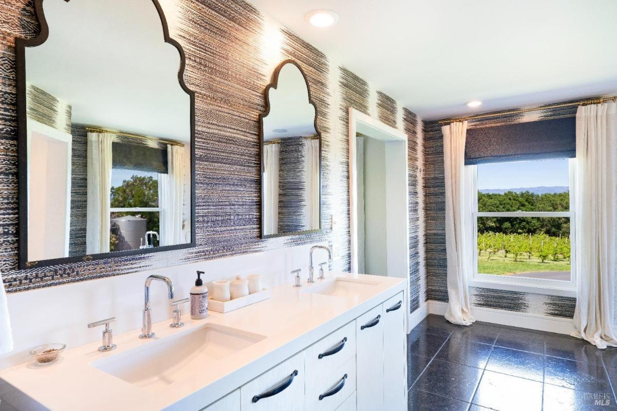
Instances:
[[[196,245],[195,232],[195,92],[184,84],[184,68],[186,67],[186,55],[180,43],[169,36],[167,20],[163,9],[157,0],[152,0],[152,4],[159,13],[160,22],[163,28],[165,43],[172,44],[180,53],[180,69],[178,70],[178,82],[191,99],[191,242],[177,245],[167,245],[154,248],[143,248],[138,250],[114,251],[110,253],[85,254],[83,256],[53,258],[41,261],[28,261],[28,139],[27,139],[27,113],[26,113],[26,47],[36,47],[45,43],[49,36],[49,26],[43,12],[43,1],[35,0],[36,18],[41,27],[41,32],[36,38],[15,39],[15,70],[17,78],[17,157],[19,170],[17,178],[19,180],[19,269],[33,267],[56,266],[57,264],[67,264],[70,262],[87,262],[99,259],[117,258],[132,256],[136,254],[159,253],[160,251],[180,250],[182,248],[192,248]],[[65,0],[69,2],[70,0]]]

